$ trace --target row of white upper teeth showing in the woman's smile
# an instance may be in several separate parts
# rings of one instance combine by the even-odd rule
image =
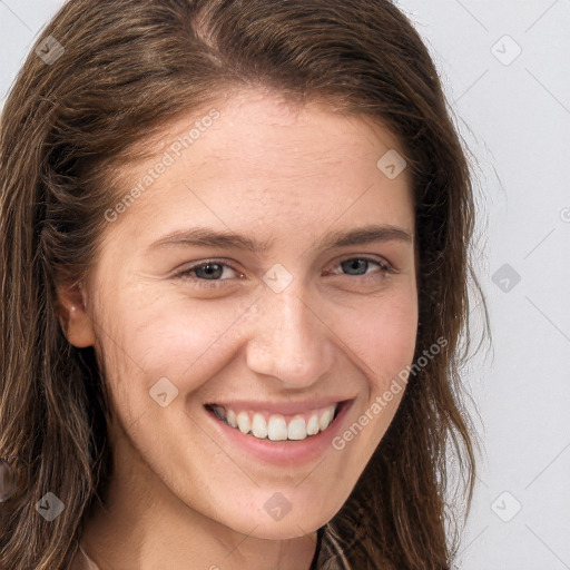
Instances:
[[[213,406],[213,410],[220,420],[224,420],[232,428],[259,440],[301,441],[326,430],[333,422],[336,407],[337,404],[334,404],[324,410],[316,410],[311,413],[307,421],[297,414],[289,420],[288,424],[282,414],[269,415],[267,422],[264,414],[259,412],[254,413],[252,417],[246,411],[236,414],[234,410],[226,410],[222,406]]]

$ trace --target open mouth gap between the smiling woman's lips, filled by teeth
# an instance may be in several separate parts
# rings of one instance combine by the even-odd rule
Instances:
[[[269,413],[266,411],[234,410],[216,403],[206,404],[206,410],[244,435],[266,441],[304,441],[325,432],[335,422],[348,401],[336,402],[326,407],[307,410],[297,414]]]

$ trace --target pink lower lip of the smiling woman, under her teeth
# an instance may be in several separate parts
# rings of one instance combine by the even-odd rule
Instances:
[[[232,428],[210,410],[206,410],[206,412],[214,422],[215,429],[224,439],[228,440],[232,449],[243,450],[249,455],[273,465],[291,465],[309,463],[321,458],[327,450],[334,451],[332,440],[341,432],[352,403],[353,400],[340,404],[341,409],[336,417],[326,430],[297,441],[259,440],[250,434],[242,433],[237,428]]]

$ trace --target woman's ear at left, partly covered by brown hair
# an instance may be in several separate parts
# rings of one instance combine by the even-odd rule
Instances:
[[[58,317],[70,344],[77,348],[95,345],[95,328],[87,313],[86,294],[80,283],[58,287]]]

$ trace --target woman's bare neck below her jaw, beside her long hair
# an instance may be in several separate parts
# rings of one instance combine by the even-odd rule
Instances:
[[[101,569],[309,569],[316,532],[285,540],[255,538],[255,528],[237,532],[180,501],[125,441],[116,442],[122,461],[115,461],[105,504],[95,504],[81,539]]]

